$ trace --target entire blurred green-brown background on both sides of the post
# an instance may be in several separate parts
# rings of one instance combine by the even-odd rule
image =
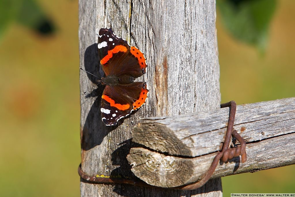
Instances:
[[[294,97],[295,1],[278,0],[264,11],[256,9],[263,0],[237,2],[239,12],[217,0],[222,102]],[[79,196],[78,1],[1,4],[0,196]],[[257,26],[251,13],[266,18]],[[294,174],[292,165],[225,177],[224,196],[294,192]]]

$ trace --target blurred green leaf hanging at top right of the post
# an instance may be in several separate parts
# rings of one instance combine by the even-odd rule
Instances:
[[[217,0],[217,7],[235,38],[265,51],[276,0]]]

